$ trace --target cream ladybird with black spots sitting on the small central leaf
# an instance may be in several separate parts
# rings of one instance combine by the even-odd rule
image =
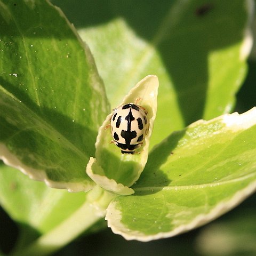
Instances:
[[[128,103],[114,110],[110,120],[111,135],[123,154],[134,154],[142,146],[148,131],[147,111]]]

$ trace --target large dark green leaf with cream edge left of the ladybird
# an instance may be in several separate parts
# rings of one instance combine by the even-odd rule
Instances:
[[[48,1],[0,4],[0,158],[51,187],[88,190],[110,111],[92,55]]]

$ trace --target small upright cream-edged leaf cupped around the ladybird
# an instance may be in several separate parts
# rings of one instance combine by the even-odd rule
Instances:
[[[100,127],[95,143],[95,156],[97,162],[94,161],[93,163],[91,160],[90,166],[87,166],[86,172],[91,179],[102,188],[110,189],[111,191],[122,194],[123,189],[120,191],[119,186],[130,187],[139,179],[148,159],[149,141],[153,131],[157,110],[157,90],[157,76],[146,76],[133,87],[121,103],[121,105],[125,103],[134,103],[140,99],[138,105],[147,110],[149,128],[143,145],[139,149],[139,153],[122,154],[120,148],[113,143],[110,143],[112,138],[110,130],[106,127],[109,125],[110,118],[113,114],[109,114]],[[104,176],[104,178],[99,179],[99,175],[102,177]],[[113,182],[115,183],[114,187]],[[128,188],[125,188],[125,191],[128,191],[131,194],[132,190],[127,189]]]

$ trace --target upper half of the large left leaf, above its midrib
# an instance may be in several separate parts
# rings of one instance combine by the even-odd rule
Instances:
[[[93,105],[93,94],[100,97],[100,89],[94,90],[86,86],[85,81],[90,80],[92,74],[97,76],[97,73],[91,71],[93,63],[83,67],[84,69],[79,67],[81,63],[77,59],[86,58],[84,50],[81,47],[80,51],[73,51],[73,46],[69,45],[69,42],[77,41],[77,35],[70,30],[65,17],[60,16],[57,10],[50,7],[45,11],[51,5],[47,1],[38,1],[36,4],[9,1],[4,5],[10,13],[0,13],[0,48],[3,55],[1,85],[20,100],[21,104],[50,123],[83,154],[87,157],[94,156],[94,143],[98,133],[95,124],[101,123],[103,110],[97,116],[93,107],[87,104],[89,102]],[[56,23],[52,21],[53,17],[56,18]],[[15,37],[19,37],[19,40]],[[37,43],[33,44],[33,38]],[[63,52],[53,50],[54,45],[59,51],[63,49]],[[40,54],[45,58],[39,57]],[[10,62],[4,63],[4,58],[10,59]],[[59,65],[60,60],[62,65]],[[71,67],[73,73],[69,70]],[[95,77],[95,83],[98,82],[97,79]],[[76,93],[79,95],[74,97]],[[79,98],[80,95],[84,97]],[[98,102],[99,108],[101,103],[103,104]],[[108,109],[108,106],[104,107]],[[73,116],[78,116],[79,119],[73,120]]]

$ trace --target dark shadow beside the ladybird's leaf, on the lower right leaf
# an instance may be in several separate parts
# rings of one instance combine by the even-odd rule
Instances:
[[[186,129],[173,132],[150,151],[145,169],[140,179],[132,187],[135,191],[134,195],[154,194],[171,185],[172,181],[168,178],[167,173],[161,170],[161,166],[166,163],[167,158],[175,154],[175,147],[185,133]]]

